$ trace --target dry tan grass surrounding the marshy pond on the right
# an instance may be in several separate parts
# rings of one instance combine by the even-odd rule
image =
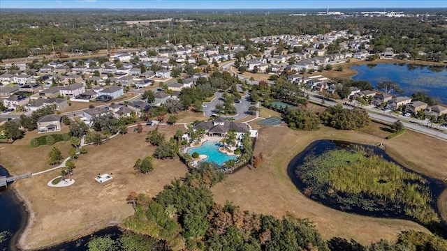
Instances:
[[[328,208],[302,195],[288,177],[288,162],[318,139],[338,139],[365,144],[382,142],[388,153],[406,167],[434,178],[447,177],[447,142],[411,131],[386,140],[384,137],[390,132],[381,132],[380,127],[383,126],[373,123],[364,129],[366,132],[355,132],[322,126],[316,132],[304,132],[291,130],[285,124],[274,127],[261,126],[255,149],[255,154],[263,153],[261,167],[247,167],[230,174],[225,181],[213,188],[214,199],[221,204],[232,201],[243,210],[277,217],[290,212],[300,218],[312,220],[324,238],[353,238],[363,245],[380,241],[381,238],[394,240],[397,234],[404,230],[427,231],[408,220],[370,218]],[[367,132],[374,133],[371,135]],[[427,156],[430,156],[428,160]],[[447,192],[444,192],[443,196],[446,197],[446,194]],[[445,203],[444,200],[444,218]]]

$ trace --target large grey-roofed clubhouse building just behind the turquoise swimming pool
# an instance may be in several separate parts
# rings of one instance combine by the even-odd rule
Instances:
[[[237,137],[240,137],[240,135],[243,135],[245,132],[249,131],[246,124],[228,121],[226,119],[222,119],[221,117],[214,119],[214,121],[198,123],[193,128],[202,128],[205,130],[207,135],[220,137],[225,137],[230,130],[234,130]]]

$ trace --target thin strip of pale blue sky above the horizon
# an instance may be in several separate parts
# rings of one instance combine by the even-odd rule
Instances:
[[[447,0],[0,0],[1,8],[447,8]]]

